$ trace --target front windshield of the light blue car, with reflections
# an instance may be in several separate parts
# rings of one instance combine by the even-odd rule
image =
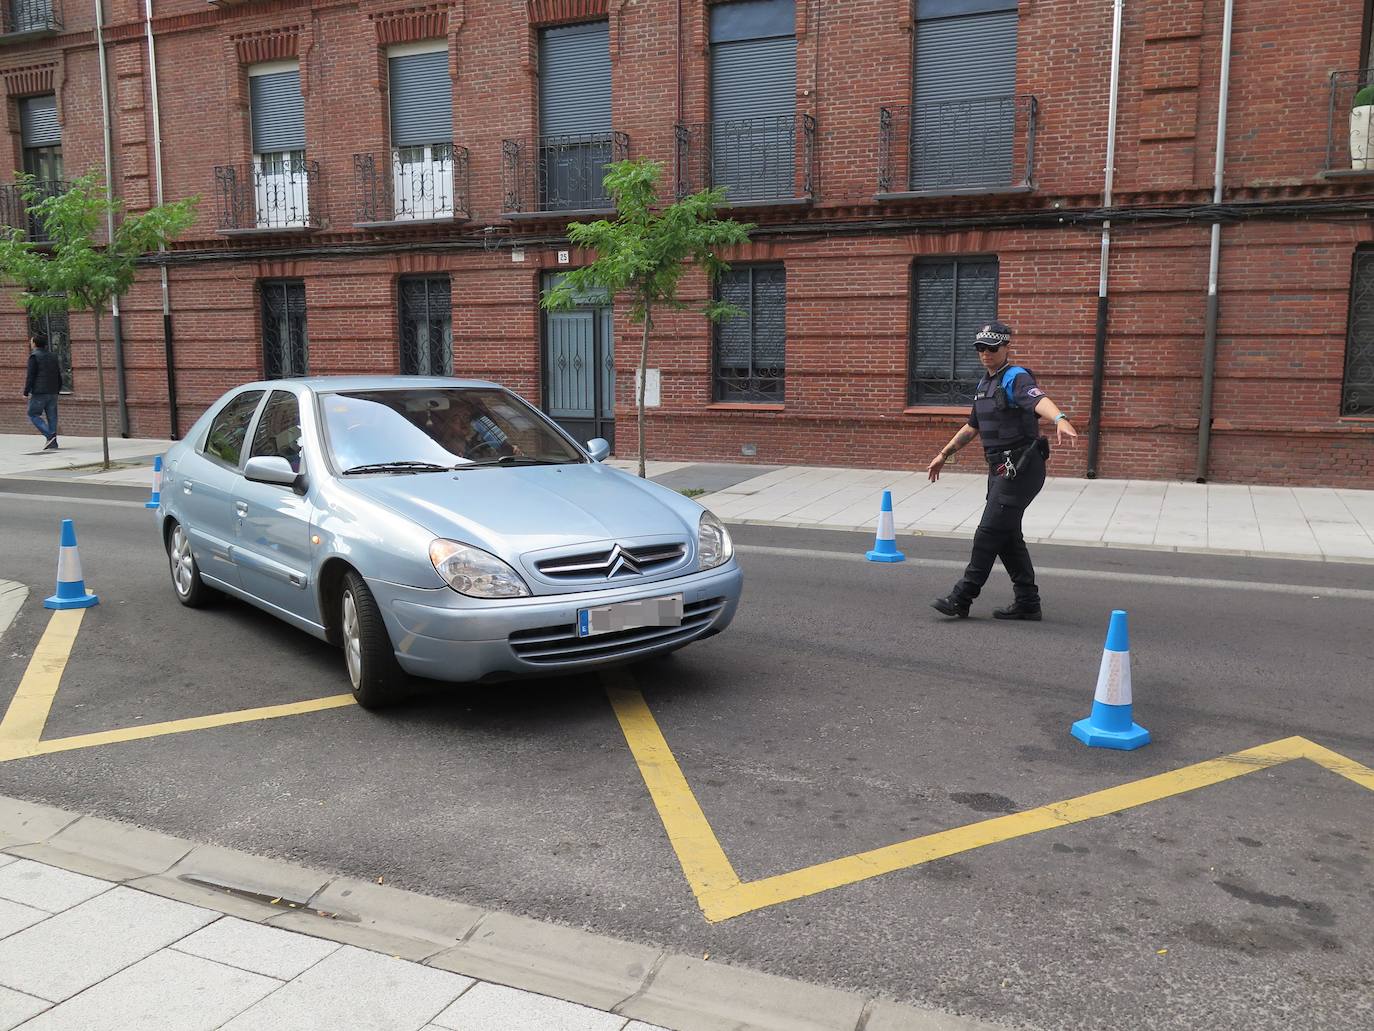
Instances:
[[[585,461],[544,417],[496,388],[341,390],[323,395],[320,408],[345,476]]]

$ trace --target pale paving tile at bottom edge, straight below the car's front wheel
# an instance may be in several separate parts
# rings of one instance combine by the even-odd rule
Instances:
[[[224,1031],[416,1031],[471,984],[471,977],[344,946]]]

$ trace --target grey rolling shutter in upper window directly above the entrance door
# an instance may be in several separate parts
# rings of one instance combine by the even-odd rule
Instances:
[[[543,136],[610,132],[610,23],[544,29],[539,40]]]

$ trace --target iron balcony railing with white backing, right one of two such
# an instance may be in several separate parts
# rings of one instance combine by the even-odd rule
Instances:
[[[359,225],[469,216],[467,147],[451,143],[354,154]]]

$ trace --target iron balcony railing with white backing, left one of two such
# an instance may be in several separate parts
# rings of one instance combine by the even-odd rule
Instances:
[[[247,165],[214,169],[220,232],[306,230],[319,225],[320,162],[262,154]]]

